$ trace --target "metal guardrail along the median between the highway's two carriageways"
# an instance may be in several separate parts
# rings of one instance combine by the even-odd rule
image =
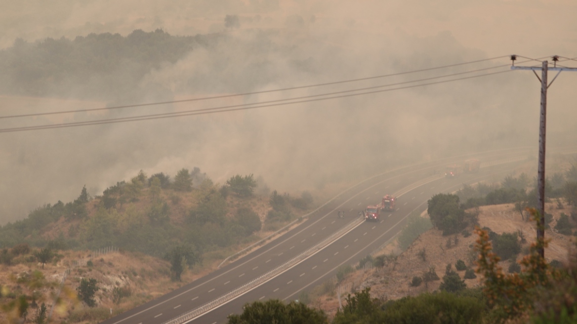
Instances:
[[[272,269],[269,272],[262,274],[261,276],[247,282],[246,284],[242,285],[241,287],[238,287],[238,288],[234,289],[233,291],[230,291],[230,292],[216,298],[215,300],[212,300],[211,302],[204,304],[203,306],[194,308],[193,310],[185,312],[185,313],[183,313],[183,314],[181,314],[178,317],[175,317],[173,319],[169,319],[168,321],[164,322],[163,324],[179,324],[179,323],[182,323],[185,321],[189,321],[190,319],[193,319],[193,318],[197,317],[198,315],[201,315],[204,312],[207,312],[207,311],[211,310],[212,308],[219,306],[220,304],[226,303],[226,302],[228,302],[228,300],[231,300],[234,297],[237,297],[237,296],[241,295],[242,293],[245,293],[254,287],[257,287],[258,285],[263,284],[265,281],[268,281],[269,279],[275,277],[276,275],[284,272],[285,270],[291,268],[291,266],[293,266],[296,263],[306,259],[307,257],[312,255],[316,251],[327,246],[329,243],[332,243],[339,236],[343,235],[343,233],[354,228],[355,226],[357,226],[357,224],[362,223],[362,221],[363,221],[362,218],[356,218],[355,220],[351,221],[349,224],[344,225],[344,227],[340,228],[338,231],[327,236],[327,238],[325,238],[321,242],[314,244],[314,246],[309,247],[307,250],[301,252],[296,257],[284,262],[282,265],[276,267],[275,269]]]

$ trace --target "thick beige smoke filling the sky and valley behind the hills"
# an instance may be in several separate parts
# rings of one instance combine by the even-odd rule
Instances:
[[[22,37],[73,39],[90,32],[163,28],[172,35],[208,35],[174,64],[140,80],[137,102],[264,91],[296,85],[424,69],[512,53],[574,55],[577,5],[569,1],[57,1],[20,5],[0,15],[0,47]],[[554,3],[554,5],[552,5]],[[563,9],[561,9],[563,7]],[[541,20],[533,19],[541,14]],[[239,28],[224,16],[238,15]],[[535,16],[533,16],[535,15]],[[37,20],[31,17],[41,17]],[[7,17],[7,16],[6,16]],[[6,18],[2,17],[2,18]],[[547,32],[546,24],[559,31]],[[541,37],[542,36],[542,37]],[[541,40],[537,43],[535,40]],[[193,101],[99,114],[37,118],[62,122],[184,111],[316,95],[458,73],[507,58],[441,71],[323,88]],[[577,76],[561,74],[550,88],[549,145],[574,144],[577,120],[570,93]],[[129,77],[129,76],[127,76]],[[98,89],[95,89],[95,92]],[[0,97],[4,114],[93,108],[121,97]],[[90,100],[87,100],[90,99]],[[80,101],[83,100],[83,101]],[[529,72],[422,88],[255,110],[145,122],[2,134],[0,224],[86,185],[91,194],[129,179],[172,176],[200,167],[215,182],[235,174],[262,176],[271,189],[306,190],[367,176],[391,165],[519,145],[536,145],[539,83]],[[25,120],[25,123],[32,123]],[[10,124],[14,123],[14,124]],[[2,122],[2,127],[20,125]]]

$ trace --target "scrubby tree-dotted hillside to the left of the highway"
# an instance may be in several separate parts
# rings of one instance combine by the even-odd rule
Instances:
[[[215,270],[312,206],[309,193],[269,193],[252,175],[214,184],[198,169],[174,180],[140,172],[96,197],[84,188],[0,227],[0,322],[18,309],[35,319],[42,303],[57,322],[106,319]],[[83,280],[96,282],[95,307],[81,302]]]

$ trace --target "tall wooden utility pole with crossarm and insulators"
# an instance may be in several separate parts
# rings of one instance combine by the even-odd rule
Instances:
[[[541,224],[537,227],[537,239],[545,239],[545,130],[547,121],[547,89],[553,81],[559,76],[561,71],[577,71],[575,67],[557,67],[559,56],[552,57],[553,67],[549,67],[548,61],[541,62],[538,66],[515,66],[516,55],[511,55],[511,70],[531,70],[541,81],[541,115],[539,117],[539,162],[537,166],[537,212],[541,216]],[[536,70],[541,70],[541,78],[537,75]],[[549,70],[558,71],[551,83],[548,84],[547,73]],[[545,248],[539,247],[539,255],[545,258]]]

